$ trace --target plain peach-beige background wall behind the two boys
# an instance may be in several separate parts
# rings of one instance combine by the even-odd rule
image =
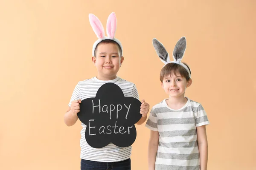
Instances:
[[[255,0],[1,0],[0,169],[79,170],[80,130],[63,116],[78,81],[96,76],[96,35],[117,16],[125,61],[119,76],[137,85],[151,107],[168,97],[152,38],[171,53],[186,36],[184,62],[211,124],[208,170],[255,170]],[[132,169],[147,170],[149,130],[137,126]]]

